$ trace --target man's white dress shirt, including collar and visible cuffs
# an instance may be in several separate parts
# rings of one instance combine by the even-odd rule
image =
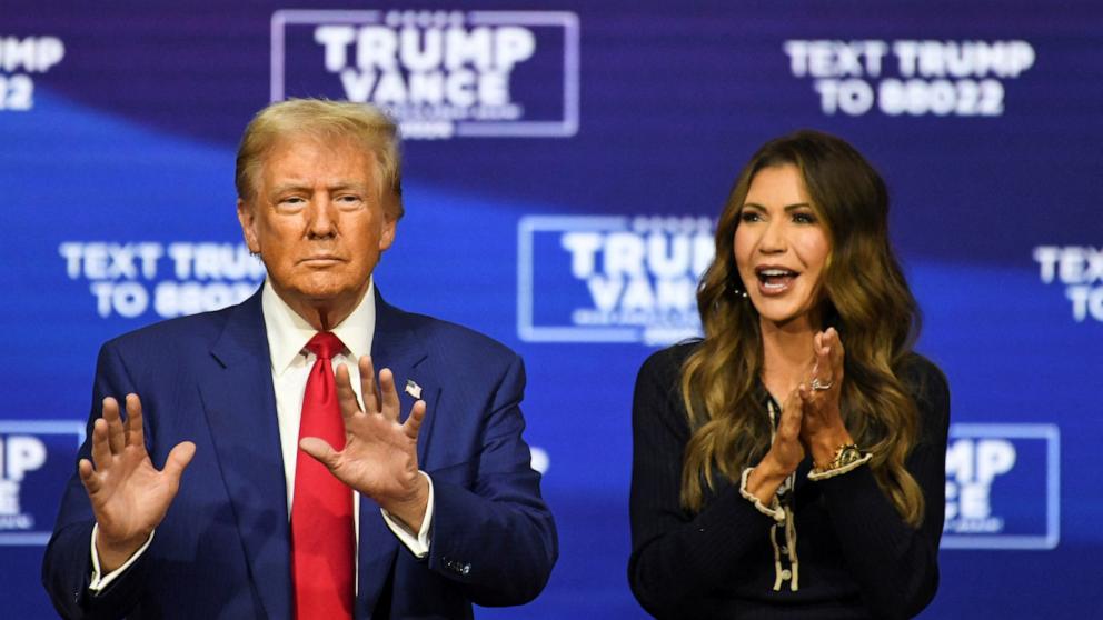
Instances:
[[[291,503],[295,496],[295,466],[299,450],[299,419],[302,414],[302,396],[306,392],[307,379],[310,369],[317,357],[306,349],[307,342],[314,338],[317,330],[302,317],[297,314],[282,299],[276,294],[271,283],[266,280],[264,291],[261,291],[261,307],[265,316],[265,331],[268,334],[268,350],[271,354],[272,388],[276,393],[276,418],[279,424],[279,441],[284,457],[284,477],[287,483],[287,514],[291,516]],[[371,338],[376,327],[376,302],[375,283],[368,282],[368,290],[364,299],[352,310],[352,312],[340,324],[331,329],[345,344],[347,350],[334,356],[332,364],[336,371],[337,364],[344,363],[349,371],[349,380],[356,392],[360,407],[364,407],[364,397],[360,393],[360,370],[357,360],[360,356],[371,352]],[[379,369],[376,369],[377,371]],[[421,520],[421,528],[414,532],[405,524],[392,519],[386,510],[382,512],[384,521],[395,536],[417,557],[424,558],[429,552],[429,529],[433,521],[433,479],[424,471],[420,472],[429,484],[429,500],[425,510],[425,519]],[[352,506],[357,508],[352,511],[354,526],[356,528],[356,540],[359,546],[360,539],[360,494],[352,493]],[[96,537],[99,526],[92,528],[91,553],[92,553],[92,579],[89,589],[99,592],[107,588],[111,581],[130,567],[153,540],[150,533],[149,539],[118,569],[108,574],[100,574],[99,557],[96,553]],[[357,564],[359,570],[359,564]]]

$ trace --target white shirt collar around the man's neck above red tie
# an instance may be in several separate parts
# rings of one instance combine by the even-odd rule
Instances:
[[[271,354],[272,372],[282,374],[296,358],[304,353],[307,342],[317,331],[287,304],[271,282],[265,279],[260,293],[261,310],[265,313],[265,330],[268,332],[268,351]],[[351,359],[371,352],[371,337],[376,330],[376,296],[375,282],[368,280],[368,290],[364,299],[352,309],[344,321],[332,328],[334,334],[341,339]]]

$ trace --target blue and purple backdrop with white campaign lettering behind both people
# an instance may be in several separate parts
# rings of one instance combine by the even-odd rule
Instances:
[[[269,100],[325,96],[387,106],[407,136],[384,294],[527,362],[560,560],[536,602],[480,617],[643,616],[635,373],[697,329],[739,168],[803,127],[886,178],[920,350],[951,381],[924,617],[1103,616],[1103,6],[1036,4],[7,0],[2,614],[53,614],[39,566],[99,344],[256,288],[237,140]]]

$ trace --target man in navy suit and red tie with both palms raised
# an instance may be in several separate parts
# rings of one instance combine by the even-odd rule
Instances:
[[[237,168],[268,278],[239,306],[103,346],[42,568],[54,607],[467,618],[535,598],[557,540],[521,439],[520,359],[387,304],[371,279],[403,214],[394,124],[275,103]]]

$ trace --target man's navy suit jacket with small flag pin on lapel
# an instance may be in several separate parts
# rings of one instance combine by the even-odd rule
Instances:
[[[558,550],[539,474],[521,439],[520,358],[468,329],[376,298],[376,368],[421,387],[418,463],[434,483],[429,554],[417,559],[360,500],[355,617],[469,618],[471,603],[520,604],[544,588]],[[291,618],[290,528],[260,293],[239,306],[109,341],[103,397],[141,397],[146,443],[161,467],[180,441],[195,459],[149,549],[98,596],[88,591],[95,519],[74,473],[42,580],[67,618]],[[403,414],[413,404],[400,394]]]

